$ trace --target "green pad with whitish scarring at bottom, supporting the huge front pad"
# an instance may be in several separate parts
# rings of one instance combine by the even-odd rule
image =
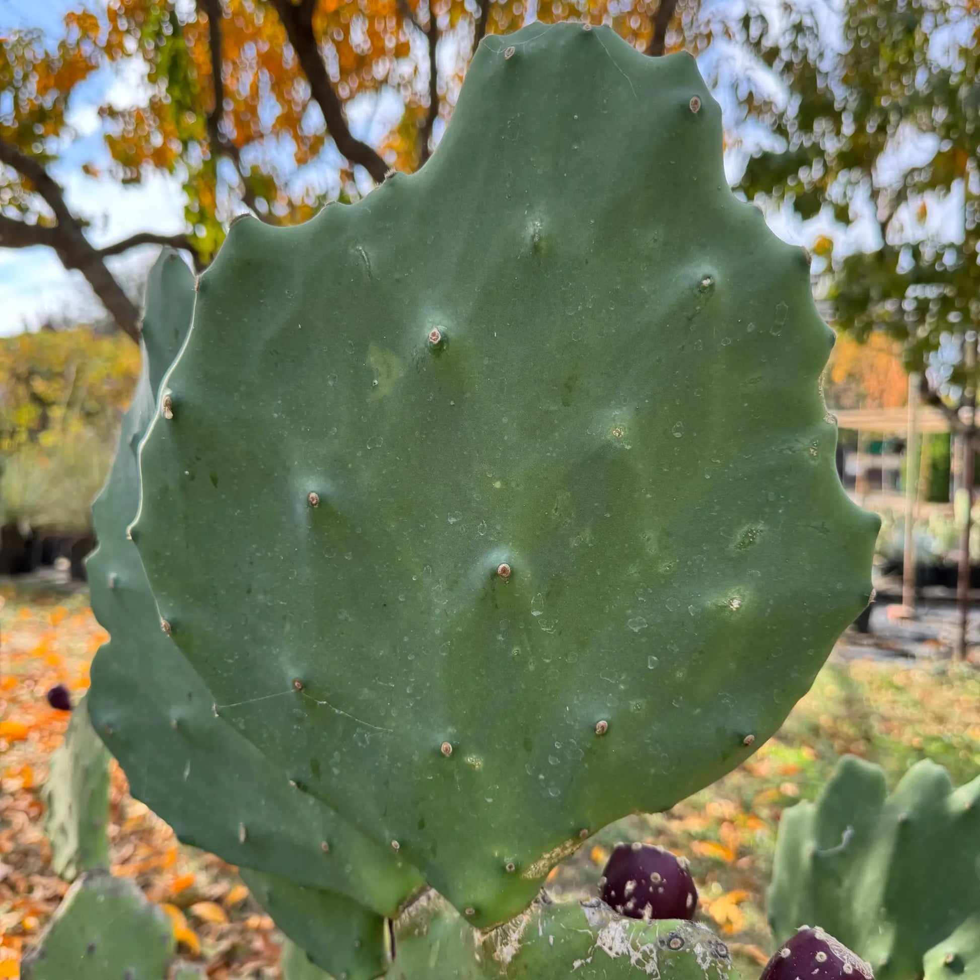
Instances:
[[[398,921],[389,980],[728,980],[728,948],[710,929],[644,921],[601,902],[539,899],[490,932],[429,893]]]

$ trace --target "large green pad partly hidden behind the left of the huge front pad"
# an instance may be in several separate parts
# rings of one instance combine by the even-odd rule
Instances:
[[[123,418],[109,479],[92,506],[99,547],[87,565],[91,602],[111,639],[92,664],[90,711],[133,795],[167,820],[180,840],[390,914],[420,886],[417,872],[298,793],[281,769],[215,716],[214,697],[161,628],[127,536],[139,506],[136,447],[155,411],[151,379],[163,373],[157,360],[172,356],[186,333],[193,296],[191,271],[165,253],[147,288],[144,371]],[[181,330],[175,331],[175,321],[182,322]],[[170,343],[162,343],[161,335]]]

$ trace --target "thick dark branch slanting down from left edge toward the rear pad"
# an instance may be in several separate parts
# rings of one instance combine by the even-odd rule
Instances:
[[[44,229],[46,241],[43,243],[35,241],[34,244],[45,244],[53,248],[66,269],[81,272],[123,332],[138,343],[139,311],[126,296],[123,287],[113,278],[112,272],[106,268],[98,250],[85,237],[81,221],[75,218],[69,209],[65,202],[65,192],[58,182],[39,161],[28,157],[13,143],[3,139],[0,139],[0,161],[27,179],[33,189],[47,202],[58,221],[54,227]],[[8,235],[12,241],[16,240],[13,229],[7,222],[18,223],[12,219],[4,219],[4,243]],[[36,225],[25,225],[25,228],[27,227],[31,227],[32,234],[38,234]],[[18,234],[23,238],[25,232],[22,230]]]

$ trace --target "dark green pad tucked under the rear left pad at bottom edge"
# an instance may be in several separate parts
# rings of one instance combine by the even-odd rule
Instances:
[[[245,868],[240,873],[276,926],[320,969],[338,980],[373,980],[384,972],[382,916],[346,895]]]

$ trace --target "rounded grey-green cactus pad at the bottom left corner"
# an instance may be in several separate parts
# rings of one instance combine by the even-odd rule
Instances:
[[[21,964],[22,980],[166,980],[170,919],[127,879],[88,871]]]

